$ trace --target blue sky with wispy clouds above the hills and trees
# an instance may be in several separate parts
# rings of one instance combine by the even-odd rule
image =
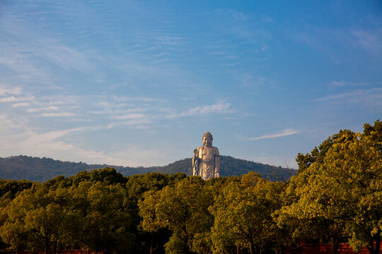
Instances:
[[[0,1],[0,157],[296,168],[382,119],[380,1]]]

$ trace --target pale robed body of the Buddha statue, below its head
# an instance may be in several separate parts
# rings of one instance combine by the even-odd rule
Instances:
[[[197,147],[197,157],[192,158],[192,171],[194,176],[200,176],[204,180],[219,177],[220,160],[217,147]]]

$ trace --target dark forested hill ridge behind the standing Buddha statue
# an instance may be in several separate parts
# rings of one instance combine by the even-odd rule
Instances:
[[[0,179],[30,181],[47,181],[55,176],[73,176],[79,171],[92,169],[101,169],[105,167],[113,167],[124,176],[132,176],[133,174],[145,174],[146,172],[159,172],[166,174],[174,174],[182,172],[187,175],[192,174],[191,159],[181,159],[164,167],[121,167],[107,164],[86,164],[83,162],[62,162],[60,160],[40,157],[13,156],[0,157]],[[296,174],[293,169],[285,169],[282,167],[274,167],[268,164],[250,162],[244,159],[235,159],[230,156],[220,156],[221,176],[240,176],[255,171],[262,175],[263,178],[269,180],[285,180],[291,174]]]

